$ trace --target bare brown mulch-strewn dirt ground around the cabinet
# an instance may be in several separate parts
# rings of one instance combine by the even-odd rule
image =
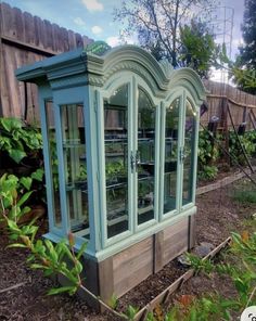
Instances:
[[[230,235],[231,231],[252,230],[245,222],[254,213],[256,204],[241,204],[232,200],[238,187],[248,188],[246,180],[232,183],[197,197],[196,234],[197,244],[210,242],[218,245]],[[41,221],[42,229],[46,221]],[[37,321],[37,320],[72,320],[72,321],[103,321],[114,320],[108,314],[97,314],[82,300],[68,295],[47,296],[47,291],[53,282],[42,277],[39,271],[27,267],[26,253],[18,249],[7,249],[8,240],[0,235],[0,321]],[[153,297],[171,284],[185,271],[177,260],[168,264],[161,272],[148,278],[135,290],[127,293],[118,301],[118,309],[125,310],[130,304],[143,307]],[[179,293],[174,294],[172,300],[181,294],[199,295],[213,292],[216,288],[223,295],[231,295],[233,288],[221,278],[208,279],[203,275],[192,278]],[[227,280],[226,280],[227,281]],[[13,285],[15,288],[5,291]]]

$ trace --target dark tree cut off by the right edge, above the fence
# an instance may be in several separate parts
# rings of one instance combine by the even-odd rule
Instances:
[[[242,24],[244,44],[234,66],[234,81],[246,92],[256,94],[256,0],[245,0]]]

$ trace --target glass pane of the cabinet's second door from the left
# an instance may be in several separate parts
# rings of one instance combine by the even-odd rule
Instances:
[[[139,88],[138,101],[138,224],[154,218],[155,107]]]

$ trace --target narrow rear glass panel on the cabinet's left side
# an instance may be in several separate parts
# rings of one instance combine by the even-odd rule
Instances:
[[[53,194],[53,221],[54,226],[61,228],[61,205],[59,191],[59,170],[57,170],[57,154],[56,154],[56,137],[55,121],[53,113],[53,104],[51,101],[46,102],[47,129],[49,141],[49,164],[51,170],[52,194]],[[50,214],[51,215],[51,214]]]

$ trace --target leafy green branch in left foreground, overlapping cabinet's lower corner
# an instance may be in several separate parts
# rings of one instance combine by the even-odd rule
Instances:
[[[49,294],[68,292],[74,294],[81,285],[80,273],[82,265],[79,258],[85,252],[84,244],[79,252],[74,252],[74,237],[68,235],[69,246],[65,241],[55,245],[49,240],[36,240],[38,226],[36,218],[28,224],[20,224],[22,217],[30,210],[26,202],[33,194],[30,180],[18,180],[14,175],[3,175],[0,178],[0,220],[5,221],[9,239],[9,247],[26,248],[29,251],[27,261],[33,269],[43,270],[46,275],[60,273],[68,281],[68,286],[52,288]],[[69,265],[67,266],[67,262]]]

